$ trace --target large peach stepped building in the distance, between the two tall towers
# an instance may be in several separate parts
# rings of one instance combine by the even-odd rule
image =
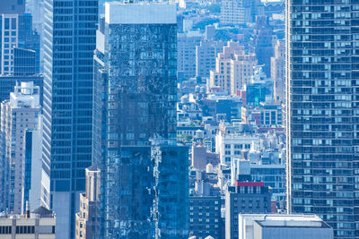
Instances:
[[[209,86],[219,87],[228,94],[235,95],[254,73],[257,58],[246,54],[239,42],[228,42],[215,61],[215,71],[210,72]]]

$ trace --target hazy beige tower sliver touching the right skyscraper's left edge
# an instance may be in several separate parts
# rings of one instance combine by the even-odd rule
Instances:
[[[285,40],[277,40],[275,55],[270,59],[270,76],[276,102],[285,101]]]

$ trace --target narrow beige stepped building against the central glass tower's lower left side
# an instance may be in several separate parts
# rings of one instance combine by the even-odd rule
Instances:
[[[80,211],[76,213],[76,239],[99,238],[100,169],[86,168],[86,192],[80,193]]]

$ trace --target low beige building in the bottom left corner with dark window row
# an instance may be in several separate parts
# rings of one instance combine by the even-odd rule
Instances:
[[[26,215],[0,216],[1,239],[55,239],[53,211],[39,207]]]

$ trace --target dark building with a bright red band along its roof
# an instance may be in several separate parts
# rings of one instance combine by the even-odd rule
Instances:
[[[239,238],[239,214],[270,212],[271,192],[263,182],[236,181],[225,192],[225,238]]]

